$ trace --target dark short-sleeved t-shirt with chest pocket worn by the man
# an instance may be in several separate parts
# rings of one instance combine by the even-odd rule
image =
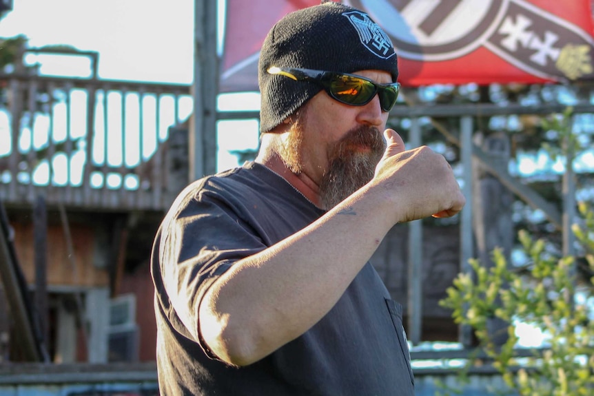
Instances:
[[[198,180],[178,196],[152,252],[162,396],[414,395],[402,306],[369,262],[320,322],[264,359],[231,367],[203,345],[198,304],[208,286],[323,214],[256,163]]]

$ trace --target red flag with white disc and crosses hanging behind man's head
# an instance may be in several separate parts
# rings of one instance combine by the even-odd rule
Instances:
[[[258,90],[258,54],[287,12],[319,0],[227,0],[221,92]],[[594,79],[590,0],[343,0],[391,38],[404,86]],[[322,38],[320,38],[322,39]]]

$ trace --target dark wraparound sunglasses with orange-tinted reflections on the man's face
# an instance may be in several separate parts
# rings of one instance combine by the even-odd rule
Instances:
[[[323,87],[332,98],[351,106],[367,105],[376,94],[385,112],[392,110],[400,92],[400,83],[378,84],[356,74],[324,72],[290,67],[270,67],[269,74],[280,74],[295,81],[311,81]]]

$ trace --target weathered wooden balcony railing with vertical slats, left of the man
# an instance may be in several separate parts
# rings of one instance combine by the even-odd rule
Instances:
[[[172,183],[170,133],[187,130],[189,85],[0,73],[0,94],[9,205],[43,194],[50,205],[159,210],[187,181]]]

